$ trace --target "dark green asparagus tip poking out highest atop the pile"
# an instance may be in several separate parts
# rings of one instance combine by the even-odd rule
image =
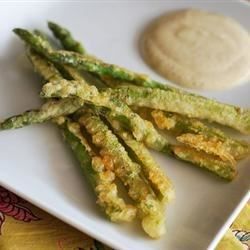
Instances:
[[[72,36],[69,30],[61,27],[60,25],[48,22],[48,26],[50,30],[53,32],[54,36],[58,38],[65,50],[75,51],[80,54],[85,53],[85,49],[81,45],[81,43],[77,42]]]

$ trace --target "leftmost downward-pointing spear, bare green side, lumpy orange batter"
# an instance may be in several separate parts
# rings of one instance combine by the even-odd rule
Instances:
[[[65,118],[56,119],[65,141],[71,147],[79,161],[85,177],[88,179],[97,196],[97,204],[111,221],[131,221],[136,216],[136,208],[127,205],[119,197],[114,183],[112,167],[102,157],[97,156],[80,131],[80,125]]]

